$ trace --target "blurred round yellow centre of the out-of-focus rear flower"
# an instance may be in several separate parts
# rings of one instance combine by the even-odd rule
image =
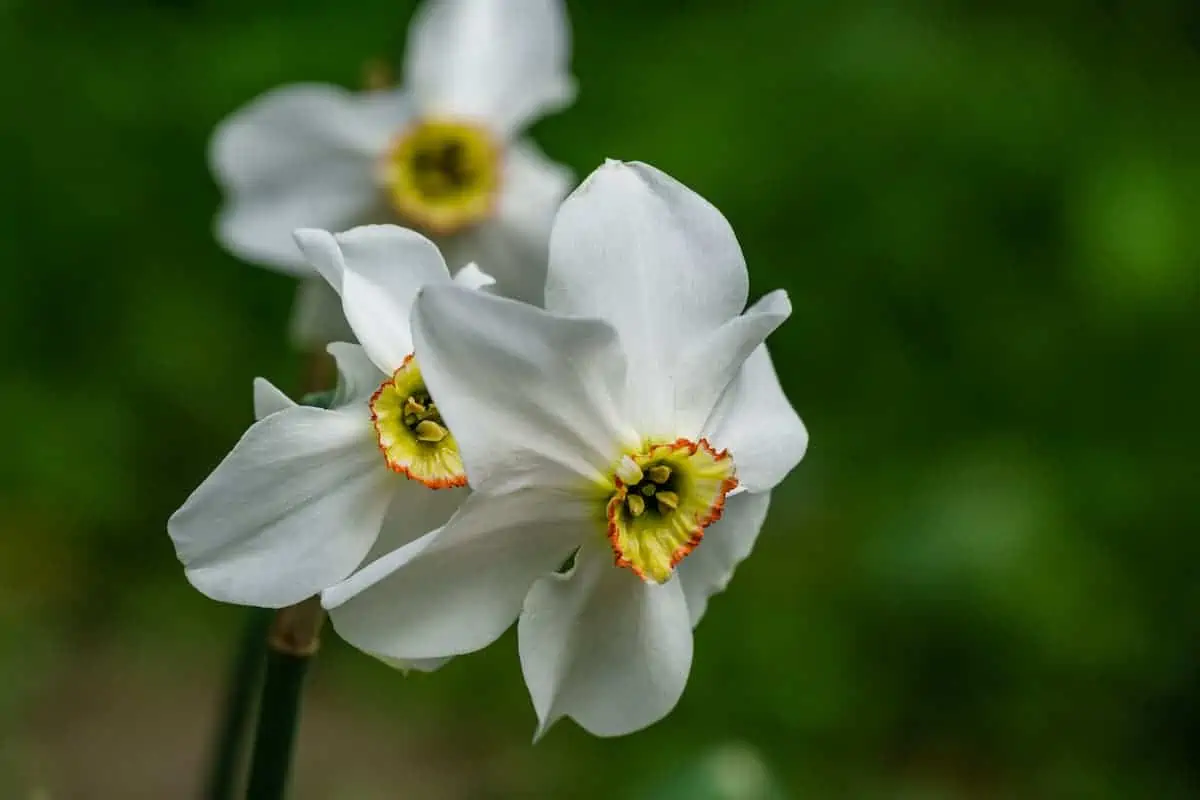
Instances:
[[[421,120],[388,151],[384,182],[396,213],[446,236],[491,213],[500,184],[500,151],[475,125]]]

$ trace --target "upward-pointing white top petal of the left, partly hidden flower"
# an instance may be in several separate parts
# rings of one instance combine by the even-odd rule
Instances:
[[[298,230],[296,242],[342,294],[342,308],[371,360],[386,374],[413,351],[409,317],[418,290],[450,283],[437,246],[397,225],[362,225],[337,235]]]

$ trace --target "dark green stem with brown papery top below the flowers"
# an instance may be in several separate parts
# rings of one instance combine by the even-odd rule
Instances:
[[[325,613],[319,597],[282,608],[266,639],[266,680],[250,764],[247,800],[281,800],[292,768],[300,696],[308,663],[320,646]]]

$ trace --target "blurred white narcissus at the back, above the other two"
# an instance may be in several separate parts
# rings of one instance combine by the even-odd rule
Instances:
[[[522,133],[574,98],[569,56],[562,0],[427,0],[401,88],[282,86],[217,127],[221,242],[313,277],[293,230],[396,222],[436,239],[451,264],[486,264],[499,291],[540,302],[546,237],[572,179]],[[338,338],[338,307],[323,282],[306,282],[294,336]]]

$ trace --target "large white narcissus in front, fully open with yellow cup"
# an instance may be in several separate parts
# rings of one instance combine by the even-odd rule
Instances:
[[[776,291],[743,313],[746,293],[720,212],[618,162],[558,213],[547,311],[425,289],[416,353],[474,493],[324,594],[337,631],[436,657],[520,615],[539,735],[563,716],[600,735],[665,716],[692,626],[808,445],[762,344],[791,306]]]

